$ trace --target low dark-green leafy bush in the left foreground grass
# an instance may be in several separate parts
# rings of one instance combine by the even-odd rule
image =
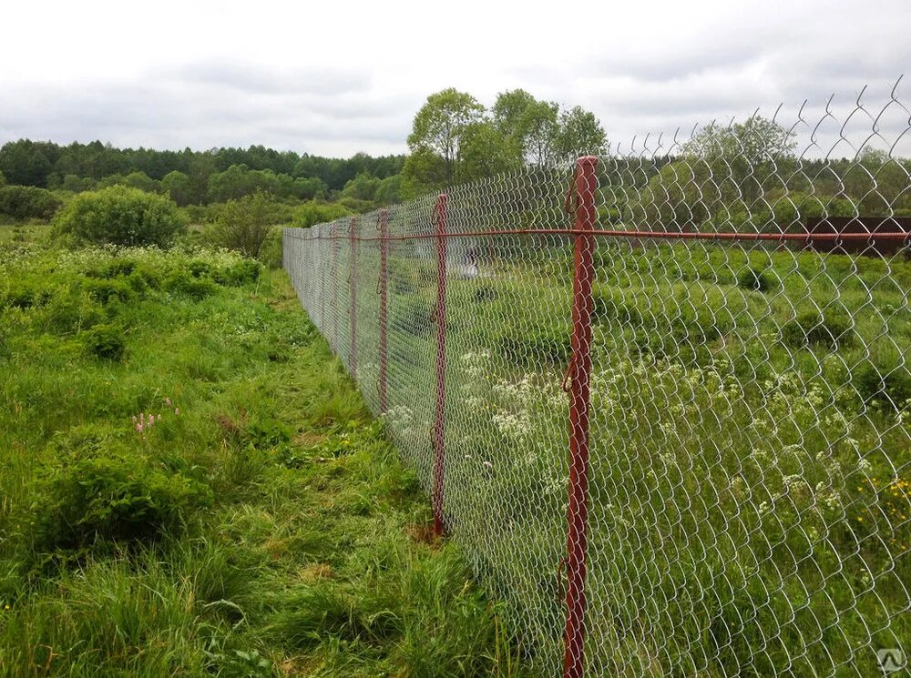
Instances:
[[[211,503],[208,486],[156,468],[135,453],[102,451],[60,467],[43,488],[39,545],[85,548],[99,539],[138,542],[175,532]]]

